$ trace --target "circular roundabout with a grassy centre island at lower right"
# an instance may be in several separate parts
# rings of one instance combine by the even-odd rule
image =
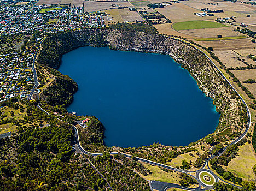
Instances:
[[[218,182],[218,178],[207,169],[201,169],[198,171],[196,173],[196,177],[205,187],[213,187],[213,184]]]

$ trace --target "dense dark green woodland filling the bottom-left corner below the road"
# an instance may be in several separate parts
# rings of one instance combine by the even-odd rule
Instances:
[[[29,105],[31,111],[37,107]],[[87,190],[100,175],[75,156],[71,127],[35,111],[33,120],[48,119],[50,126],[29,126],[19,135],[0,139],[0,190]],[[29,113],[28,113],[29,114]],[[42,117],[42,118],[41,118]],[[83,166],[80,165],[83,163]]]

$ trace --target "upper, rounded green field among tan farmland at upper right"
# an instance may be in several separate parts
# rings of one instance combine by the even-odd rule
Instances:
[[[186,21],[186,22],[177,22],[172,25],[172,28],[176,31],[200,29],[200,28],[219,28],[219,27],[228,27],[228,26],[223,25],[222,23],[212,22],[212,21]]]

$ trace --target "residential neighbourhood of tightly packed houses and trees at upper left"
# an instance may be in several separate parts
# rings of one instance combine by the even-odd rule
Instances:
[[[104,13],[85,13],[84,7],[68,4],[36,3],[0,1],[0,35],[7,37],[7,44],[0,44],[0,102],[12,97],[32,96],[30,94],[36,85],[33,59],[45,35],[83,28],[106,28]]]

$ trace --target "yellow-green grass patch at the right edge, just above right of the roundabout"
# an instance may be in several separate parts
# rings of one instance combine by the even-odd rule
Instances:
[[[239,147],[238,156],[229,162],[226,169],[245,180],[255,181],[253,165],[256,164],[256,155],[251,144],[248,142]]]

